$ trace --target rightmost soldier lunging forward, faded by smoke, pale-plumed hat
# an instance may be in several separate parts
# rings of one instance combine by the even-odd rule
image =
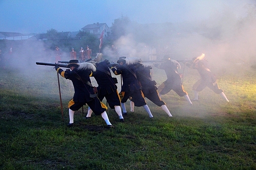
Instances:
[[[198,100],[198,92],[202,91],[206,86],[212,89],[215,93],[219,94],[226,102],[229,102],[224,94],[224,91],[219,88],[215,76],[212,74],[207,66],[207,61],[202,54],[199,57],[192,58],[192,63],[186,65],[192,69],[196,69],[200,75],[200,79],[193,85],[194,99]]]

